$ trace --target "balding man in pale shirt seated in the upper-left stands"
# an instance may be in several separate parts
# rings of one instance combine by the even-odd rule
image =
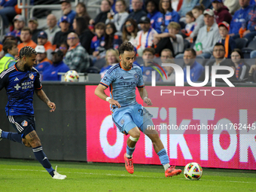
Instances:
[[[48,40],[50,41],[51,44],[53,44],[53,38],[56,32],[59,32],[59,26],[57,26],[57,19],[55,15],[53,14],[48,14],[47,15],[47,26],[48,28],[44,31],[47,33]]]

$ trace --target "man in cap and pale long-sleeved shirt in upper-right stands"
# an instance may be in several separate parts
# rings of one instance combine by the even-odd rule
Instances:
[[[198,32],[194,50],[197,50],[197,56],[200,55],[209,59],[212,56],[213,47],[221,35],[218,32],[218,24],[215,23],[214,12],[211,9],[206,9],[203,11],[203,15],[205,26]]]

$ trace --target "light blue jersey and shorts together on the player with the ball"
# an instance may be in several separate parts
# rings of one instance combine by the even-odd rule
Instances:
[[[127,134],[136,126],[144,131],[148,125],[153,125],[152,115],[136,102],[136,87],[144,87],[142,69],[139,66],[125,70],[117,63],[108,69],[100,84],[109,87],[111,98],[121,105],[120,108],[110,106],[112,119],[121,133]]]

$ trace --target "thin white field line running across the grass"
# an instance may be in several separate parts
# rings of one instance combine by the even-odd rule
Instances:
[[[0,170],[9,170],[9,171],[27,171],[27,172],[47,172],[45,170],[31,170],[31,169],[0,169]],[[62,174],[82,174],[82,175],[110,175],[110,176],[122,176],[122,177],[137,177],[137,178],[165,178],[163,177],[154,177],[154,176],[143,176],[143,175],[118,175],[118,174],[110,174],[110,173],[95,173],[95,172],[59,172]],[[187,180],[186,178],[178,178],[181,180]],[[202,181],[202,180],[201,180]],[[232,182],[232,183],[245,183],[245,184],[256,184],[256,182],[248,182],[248,181],[228,181],[228,180],[209,180],[206,179],[205,181],[216,181],[216,182]]]

